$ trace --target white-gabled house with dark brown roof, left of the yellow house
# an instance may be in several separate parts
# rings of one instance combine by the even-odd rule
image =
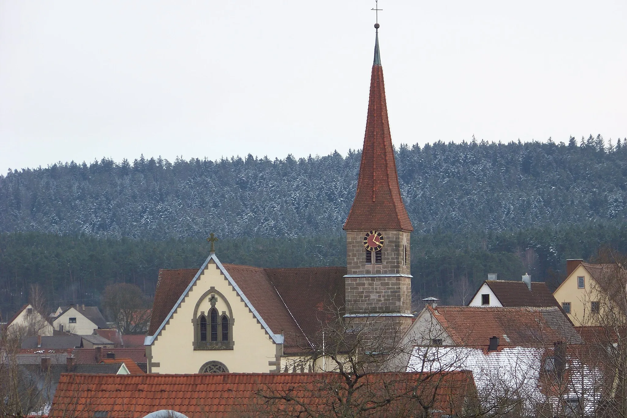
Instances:
[[[521,281],[497,280],[497,274],[488,274],[468,306],[559,306],[549,286],[544,282],[531,281],[525,274]]]

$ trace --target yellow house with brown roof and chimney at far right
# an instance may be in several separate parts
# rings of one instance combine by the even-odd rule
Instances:
[[[616,264],[590,264],[582,259],[569,259],[566,261],[566,280],[553,292],[553,296],[575,325],[599,325],[604,303],[618,294],[621,286],[618,283],[625,283],[623,276],[624,271]],[[621,294],[624,295],[624,290]]]

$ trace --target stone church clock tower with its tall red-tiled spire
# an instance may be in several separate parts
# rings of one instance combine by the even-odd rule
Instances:
[[[349,317],[390,317],[404,328],[412,316],[409,234],[413,227],[398,184],[379,55],[379,24],[374,27],[366,136],[357,194],[344,223],[345,309]]]

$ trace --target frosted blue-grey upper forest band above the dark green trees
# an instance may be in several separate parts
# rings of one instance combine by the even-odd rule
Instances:
[[[627,212],[627,146],[592,135],[548,142],[462,142],[397,150],[416,232],[503,231]],[[283,160],[103,159],[0,176],[0,231],[167,239],[340,231],[359,152]]]

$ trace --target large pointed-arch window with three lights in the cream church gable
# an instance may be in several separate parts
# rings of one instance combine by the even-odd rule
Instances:
[[[208,311],[200,310],[203,304]],[[192,323],[194,350],[233,350],[233,311],[215,288],[210,288],[196,303]]]

